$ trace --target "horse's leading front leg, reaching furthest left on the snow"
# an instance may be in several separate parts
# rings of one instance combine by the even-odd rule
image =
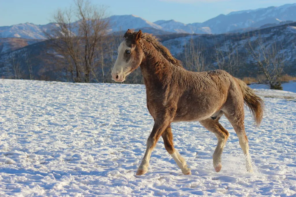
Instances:
[[[148,171],[150,156],[153,148],[155,147],[158,139],[160,138],[161,134],[170,124],[171,119],[170,118],[160,118],[156,119],[152,132],[150,133],[150,136],[147,139],[147,148],[146,152],[144,154],[144,157],[142,159],[142,162],[137,170],[136,175],[144,175]]]

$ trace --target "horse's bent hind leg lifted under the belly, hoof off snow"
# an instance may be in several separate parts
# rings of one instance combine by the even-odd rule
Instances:
[[[208,118],[200,121],[202,126],[204,126],[207,130],[215,133],[216,137],[218,138],[218,144],[213,154],[213,165],[216,172],[219,172],[222,168],[221,154],[229,136],[228,131],[223,128],[223,126],[218,122],[219,119],[220,118],[213,120],[212,118]]]

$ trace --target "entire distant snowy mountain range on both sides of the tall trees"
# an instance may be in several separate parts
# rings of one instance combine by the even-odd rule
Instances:
[[[135,15],[114,15],[106,18],[110,21],[109,33],[127,29],[147,28],[150,33],[196,33],[221,34],[226,32],[245,32],[260,27],[281,25],[287,21],[296,21],[296,3],[283,6],[271,6],[255,10],[242,10],[220,14],[202,23],[184,24],[175,20],[157,20],[149,22]],[[49,31],[56,24],[34,25],[32,23],[0,27],[1,38],[46,39],[43,31]],[[75,33],[75,32],[74,32]]]

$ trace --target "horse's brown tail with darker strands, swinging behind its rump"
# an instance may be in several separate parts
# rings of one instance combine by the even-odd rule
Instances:
[[[245,82],[235,78],[239,84],[242,94],[244,96],[244,103],[249,107],[250,112],[255,120],[257,126],[260,125],[263,118],[264,102],[258,97],[255,92],[247,86]]]

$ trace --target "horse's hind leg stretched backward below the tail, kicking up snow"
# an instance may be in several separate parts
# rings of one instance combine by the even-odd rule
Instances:
[[[249,155],[248,138],[246,136],[244,128],[244,104],[242,103],[242,105],[238,105],[236,108],[226,108],[224,114],[233,126],[234,131],[237,133],[237,136],[239,138],[239,145],[241,146],[242,151],[245,155],[246,169],[248,172],[252,172],[253,169]]]

